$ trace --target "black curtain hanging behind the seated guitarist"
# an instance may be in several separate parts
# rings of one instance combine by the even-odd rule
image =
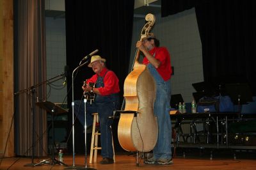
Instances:
[[[120,80],[120,102],[122,103],[124,80],[129,70],[134,1],[66,0],[65,8],[67,65],[70,72],[79,65],[84,56],[99,49],[97,54],[106,58],[107,67],[113,70]],[[87,65],[79,69],[74,80],[75,100],[81,99],[83,81],[92,75],[92,68],[88,68]],[[71,77],[68,78],[68,89],[70,87]],[[70,91],[68,92],[70,110],[71,102],[72,93]],[[72,120],[72,114],[69,114],[68,120]],[[76,129],[79,130],[79,127]],[[83,132],[77,132],[77,134],[83,139],[83,135],[81,135]],[[88,145],[90,144],[88,143]]]

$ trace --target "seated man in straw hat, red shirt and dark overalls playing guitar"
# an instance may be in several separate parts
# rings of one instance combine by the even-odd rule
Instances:
[[[100,144],[102,147],[102,160],[100,164],[113,164],[113,146],[111,135],[111,124],[113,120],[109,116],[113,115],[113,111],[118,109],[119,105],[119,81],[116,74],[106,68],[106,59],[100,56],[92,56],[91,62],[88,65],[92,67],[93,75],[87,79],[87,83],[93,83],[94,86],[82,86],[84,91],[95,93],[94,102],[86,103],[86,126],[90,127],[93,123],[92,113],[99,113],[100,121]],[[84,125],[84,108],[83,105],[75,102],[75,113],[77,118]]]

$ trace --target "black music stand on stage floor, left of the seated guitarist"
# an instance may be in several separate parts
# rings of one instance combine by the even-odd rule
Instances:
[[[42,107],[43,109],[45,109],[47,112],[51,112],[52,114],[52,158],[49,158],[47,160],[44,160],[42,162],[39,162],[38,164],[35,164],[34,166],[40,166],[42,164],[45,164],[45,162],[48,162],[49,160],[51,160],[51,165],[55,165],[55,164],[63,164],[64,166],[67,166],[67,164],[64,164],[63,162],[61,162],[60,160],[56,159],[54,157],[54,114],[58,115],[61,113],[65,113],[67,112],[65,109],[61,108],[60,106],[49,102],[49,101],[44,101],[44,102],[37,102],[36,105],[38,105],[39,107]]]

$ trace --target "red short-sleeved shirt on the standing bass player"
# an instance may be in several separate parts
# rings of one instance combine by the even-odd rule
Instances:
[[[161,65],[157,68],[157,72],[164,81],[168,81],[172,76],[171,67],[171,57],[168,50],[165,47],[154,47],[154,49],[149,51],[152,56],[155,54],[155,58],[161,61]],[[143,64],[147,65],[149,63],[148,59],[143,58]]]

